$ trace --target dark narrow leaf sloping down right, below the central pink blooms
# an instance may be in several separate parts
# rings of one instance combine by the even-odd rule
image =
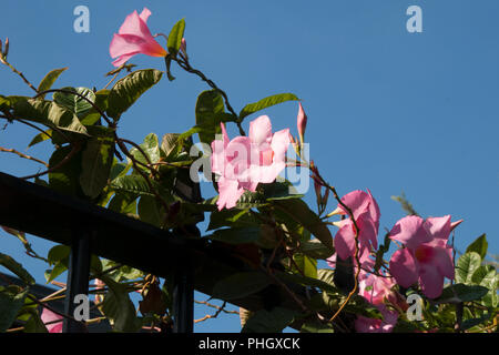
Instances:
[[[273,204],[279,210],[286,212],[293,220],[302,224],[316,239],[334,253],[333,235],[327,225],[314,213],[308,205],[299,199],[286,201],[274,201]]]

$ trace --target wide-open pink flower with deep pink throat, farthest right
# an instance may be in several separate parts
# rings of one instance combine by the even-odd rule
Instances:
[[[451,224],[450,215],[426,221],[414,215],[399,220],[390,231],[390,239],[406,246],[390,260],[390,273],[397,283],[409,287],[419,282],[427,297],[438,297],[444,277],[454,278],[452,247],[447,240],[459,223]]]

